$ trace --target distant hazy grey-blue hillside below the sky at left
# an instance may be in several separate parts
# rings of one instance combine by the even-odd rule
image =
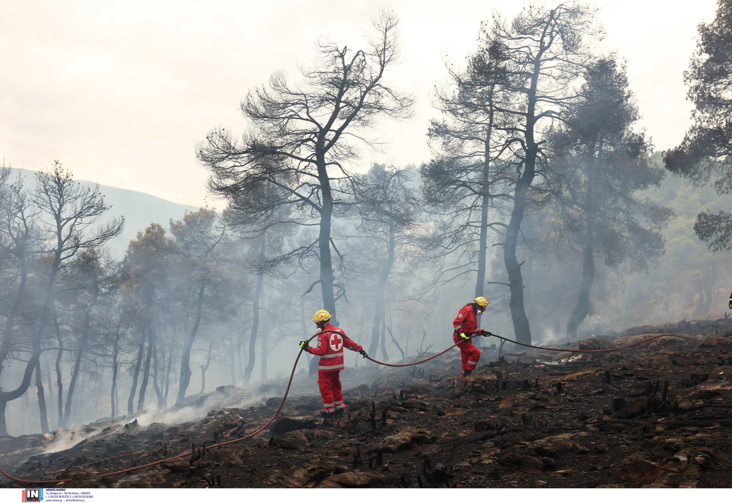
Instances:
[[[16,173],[20,170],[13,169]],[[23,183],[29,190],[35,187],[35,172],[29,169],[23,170]],[[94,182],[78,180],[84,185],[94,185]],[[136,190],[120,189],[100,185],[104,199],[112,208],[107,212],[108,218],[124,215],[124,231],[109,243],[109,249],[114,258],[122,258],[127,244],[133,239],[138,231],[144,231],[151,223],[160,223],[168,230],[168,220],[173,218],[179,220],[186,210],[198,211],[196,206],[178,204],[165,201],[154,195],[137,192]]]

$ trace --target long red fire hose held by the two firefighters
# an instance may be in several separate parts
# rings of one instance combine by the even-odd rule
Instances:
[[[324,330],[321,333],[324,333],[324,332],[325,333],[338,333],[338,334],[340,334],[340,332],[335,332],[334,330]],[[313,338],[315,338],[316,335],[313,335],[312,337],[310,337],[309,339],[307,339],[307,341],[310,342],[310,340],[313,340]],[[343,335],[343,334],[340,334],[340,335]],[[531,344],[519,343],[519,342],[516,342],[515,340],[510,340],[510,339],[507,339],[507,338],[501,337],[500,335],[495,335],[495,334],[492,334],[491,336],[492,337],[499,338],[499,339],[507,340],[510,343],[519,344],[520,346],[526,346],[528,348],[543,349],[543,350],[547,350],[547,351],[567,351],[567,352],[572,352],[572,353],[602,353],[604,351],[618,351],[619,349],[632,348],[633,346],[638,346],[640,344],[650,342],[651,340],[654,340],[654,339],[657,339],[657,338],[660,338],[660,337],[666,337],[666,336],[677,337],[677,338],[684,338],[684,339],[696,339],[695,337],[689,337],[687,335],[661,334],[661,335],[656,335],[654,337],[651,337],[651,338],[648,338],[648,339],[645,339],[645,340],[641,340],[641,342],[634,343],[634,344],[628,344],[627,346],[621,346],[619,348],[610,348],[610,349],[557,349],[557,348],[542,348],[541,346],[531,346]],[[470,338],[474,338],[474,337],[479,337],[479,335],[471,335],[470,336]],[[460,341],[460,342],[463,342],[463,341]],[[445,354],[450,349],[454,348],[455,346],[458,346],[458,344],[459,343],[455,343],[452,346],[450,346],[449,348],[445,349],[444,351],[440,351],[437,354],[433,354],[433,356],[431,356],[429,358],[420,359],[417,362],[411,362],[411,363],[403,363],[403,364],[386,363],[386,362],[379,362],[377,359],[373,359],[372,357],[369,357],[369,356],[367,356],[366,358],[367,359],[370,359],[372,362],[378,363],[379,365],[386,365],[386,367],[410,367],[411,365],[418,365],[419,363],[428,362],[430,359],[436,358],[436,357],[440,356],[441,354]],[[272,421],[275,420],[275,417],[277,417],[277,414],[280,414],[280,410],[282,410],[283,405],[285,405],[285,400],[287,399],[288,392],[290,392],[290,386],[292,384],[292,379],[295,376],[295,369],[297,368],[297,362],[299,361],[301,354],[302,354],[302,349],[300,349],[300,352],[297,354],[297,358],[295,359],[295,365],[293,365],[293,367],[292,367],[292,372],[290,373],[290,380],[287,383],[287,389],[285,390],[285,396],[283,396],[283,398],[282,398],[282,403],[280,403],[280,406],[277,407],[277,410],[275,411],[275,414],[273,414],[272,417],[269,418],[269,421],[267,421],[266,423],[264,423],[264,425],[261,428],[259,428],[257,431],[254,431],[253,433],[250,433],[247,436],[242,436],[239,439],[234,439],[234,440],[229,440],[229,441],[225,441],[225,442],[220,442],[219,444],[213,444],[213,445],[210,445],[210,446],[206,447],[206,449],[211,449],[212,447],[220,447],[220,446],[226,445],[226,444],[234,444],[234,442],[238,442],[238,441],[250,439],[253,436],[255,436],[256,434],[261,433],[261,431],[263,431],[264,428],[266,428],[267,426],[269,426],[272,423]],[[148,466],[154,466],[154,465],[157,465],[159,463],[165,463],[165,461],[171,461],[173,459],[182,458],[182,457],[187,456],[187,455],[190,455],[190,454],[193,454],[193,451],[190,451],[189,450],[189,451],[186,451],[186,452],[182,452],[179,455],[171,456],[170,458],[165,458],[165,459],[160,459],[160,460],[157,460],[157,461],[153,461],[152,463],[147,463],[147,464],[143,464],[143,465],[140,465],[140,466],[132,466],[132,468],[127,468],[127,469],[124,469],[124,470],[119,470],[117,472],[110,472],[110,473],[101,474],[100,477],[111,477],[113,475],[118,475],[118,474],[125,473],[125,472],[132,472],[134,470],[138,470],[138,469],[141,469],[141,468],[147,468]],[[1,469],[0,469],[0,474],[3,474],[5,477],[9,478],[10,480],[15,480],[15,482],[23,482],[23,483],[26,483],[26,484],[60,484],[61,482],[71,482],[72,481],[72,479],[61,479],[61,480],[24,480],[24,479],[19,479],[17,477],[13,477],[12,475],[5,473]]]

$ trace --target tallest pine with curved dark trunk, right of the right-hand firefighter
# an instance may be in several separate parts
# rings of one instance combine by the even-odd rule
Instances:
[[[512,209],[501,245],[515,337],[522,343],[531,343],[531,329],[523,304],[523,262],[516,255],[521,222],[534,179],[545,175],[545,132],[575,97],[572,82],[591,60],[586,39],[602,36],[595,11],[575,3],[553,9],[530,6],[510,25],[496,16],[482,31],[482,43],[495,45],[493,51],[505,62],[502,87],[507,97],[505,104],[494,106],[503,118],[496,129],[507,133],[499,151]]]

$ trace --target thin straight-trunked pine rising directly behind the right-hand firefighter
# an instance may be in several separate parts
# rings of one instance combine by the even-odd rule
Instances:
[[[433,120],[427,133],[433,159],[420,170],[422,198],[439,215],[441,231],[432,245],[457,254],[460,262],[441,271],[438,281],[475,272],[476,297],[485,293],[488,230],[506,227],[490,222],[489,209],[493,199],[512,198],[499,159],[505,133],[496,129],[507,76],[504,56],[492,42],[468,56],[465,69],[447,66],[448,83],[436,89],[433,100],[443,119]]]

